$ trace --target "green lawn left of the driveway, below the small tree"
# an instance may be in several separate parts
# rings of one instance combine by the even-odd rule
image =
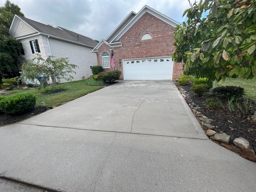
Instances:
[[[66,89],[66,91],[58,93],[41,93],[37,89],[33,90],[11,90],[8,91],[5,96],[12,96],[15,94],[32,93],[36,95],[36,106],[41,106],[41,102],[45,102],[46,106],[60,106],[66,102],[72,101],[76,98],[84,96],[88,93],[94,92],[103,88],[102,86],[89,86],[85,84],[86,80],[73,81],[58,85],[60,89]]]

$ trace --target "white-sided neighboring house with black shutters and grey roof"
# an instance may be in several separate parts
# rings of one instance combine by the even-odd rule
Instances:
[[[70,64],[78,66],[76,74],[72,74],[74,80],[90,77],[91,66],[97,65],[96,54],[91,52],[97,42],[62,27],[54,28],[15,15],[9,33],[22,43],[26,60],[33,59],[37,54],[43,58],[68,58]]]

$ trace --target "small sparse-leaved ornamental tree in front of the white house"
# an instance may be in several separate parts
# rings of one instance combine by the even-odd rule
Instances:
[[[44,59],[41,55],[38,55],[34,59],[25,62],[22,70],[24,71],[23,76],[32,82],[38,81],[41,77],[41,86],[44,85],[45,81],[52,80],[53,90],[56,90],[57,82],[60,82],[61,78],[67,81],[73,79],[71,73],[76,73],[73,70],[76,67],[76,65],[68,63],[67,58],[48,56]]]

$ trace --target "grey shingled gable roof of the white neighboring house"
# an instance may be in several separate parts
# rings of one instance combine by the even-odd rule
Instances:
[[[36,30],[38,34],[43,34],[43,35],[51,36],[53,38],[58,38],[61,40],[67,40],[69,42],[83,44],[84,46],[89,46],[89,47],[95,47],[97,45],[97,42],[95,42],[93,39],[83,36],[81,34],[78,34],[76,32],[72,32],[60,26],[57,26],[56,28],[54,28],[52,26],[48,26],[40,22],[36,22],[34,20],[31,20],[22,16],[18,16],[18,15],[15,15],[13,18],[12,25],[9,31],[11,36],[14,36],[19,19],[24,21],[34,30]],[[23,36],[23,37],[26,37],[26,36]],[[22,37],[16,37],[16,38],[22,38]]]

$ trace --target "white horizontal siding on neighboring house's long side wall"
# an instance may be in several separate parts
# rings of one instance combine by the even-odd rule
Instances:
[[[75,64],[76,74],[72,73],[73,80],[82,80],[82,77],[89,78],[92,75],[90,66],[97,65],[97,57],[92,53],[92,48],[64,42],[61,40],[49,38],[52,56],[56,58],[68,58],[70,64]],[[66,82],[61,80],[61,82]]]

